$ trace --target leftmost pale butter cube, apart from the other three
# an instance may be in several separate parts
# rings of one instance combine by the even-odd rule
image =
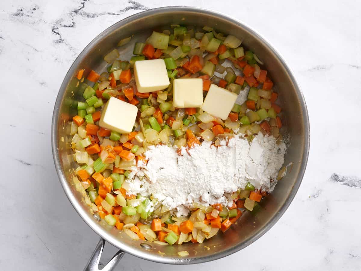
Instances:
[[[110,97],[101,113],[99,126],[121,134],[130,133],[137,113],[138,108],[136,106]]]

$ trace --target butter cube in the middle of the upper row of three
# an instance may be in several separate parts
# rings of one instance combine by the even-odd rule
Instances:
[[[173,82],[173,106],[178,108],[201,107],[203,104],[203,80],[180,78]]]

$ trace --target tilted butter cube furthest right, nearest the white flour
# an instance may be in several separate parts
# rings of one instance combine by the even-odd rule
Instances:
[[[225,120],[231,112],[236,99],[237,94],[212,84],[204,99],[202,109]]]

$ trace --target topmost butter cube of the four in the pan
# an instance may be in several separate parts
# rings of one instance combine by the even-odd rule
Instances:
[[[167,68],[163,59],[136,61],[134,77],[140,93],[163,90],[169,86]]]

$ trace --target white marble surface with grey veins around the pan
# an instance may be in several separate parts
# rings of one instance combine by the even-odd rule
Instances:
[[[71,63],[97,34],[165,3],[139,1],[1,1],[1,270],[82,270],[97,244],[98,236],[73,210],[56,176],[53,105]],[[117,270],[360,270],[360,2],[182,4],[239,18],[281,52],[309,109],[308,167],[286,213],[242,251],[187,267],[125,255]],[[332,181],[333,173],[348,180]],[[103,261],[115,251],[108,245]]]

